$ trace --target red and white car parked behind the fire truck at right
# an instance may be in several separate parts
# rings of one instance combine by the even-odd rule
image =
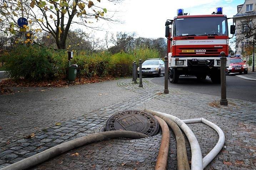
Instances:
[[[248,73],[247,66],[245,64],[245,60],[243,61],[240,57],[230,58],[229,68],[226,69],[226,75],[229,73],[240,73],[242,74]]]

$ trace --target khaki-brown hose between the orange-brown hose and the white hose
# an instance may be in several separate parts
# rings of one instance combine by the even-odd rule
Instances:
[[[179,126],[172,121],[171,119],[160,116],[161,119],[163,119],[168,126],[172,129],[172,131],[175,134],[176,143],[177,143],[177,168],[178,170],[190,170],[189,167],[189,160],[187,159],[187,149],[186,149],[186,143],[185,138],[179,128]]]

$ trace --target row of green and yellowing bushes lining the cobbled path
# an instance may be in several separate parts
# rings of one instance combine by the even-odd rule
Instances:
[[[68,73],[67,51],[34,46],[17,46],[5,56],[5,70],[11,79],[24,81],[43,81],[66,79]],[[154,49],[136,49],[132,53],[111,54],[106,51],[85,55],[74,53],[71,64],[77,64],[82,78],[113,76],[125,77],[132,73],[132,62],[139,59],[157,58]]]

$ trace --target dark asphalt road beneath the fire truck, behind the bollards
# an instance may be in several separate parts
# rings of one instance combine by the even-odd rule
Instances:
[[[234,74],[226,76],[227,97],[256,102],[256,81],[241,79]],[[164,76],[152,79],[153,83],[164,86]],[[220,96],[220,84],[213,84],[207,76],[206,80],[197,81],[196,77],[180,76],[177,84],[168,80],[169,88]],[[164,91],[164,88],[163,88]]]

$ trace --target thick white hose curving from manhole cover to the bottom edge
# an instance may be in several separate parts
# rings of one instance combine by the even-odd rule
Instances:
[[[172,119],[172,121],[174,121],[182,129],[182,131],[186,134],[187,139],[189,140],[191,153],[192,153],[191,170],[203,170],[201,148],[195,137],[195,134],[191,131],[191,129],[184,122],[182,122],[181,119],[175,116],[162,113],[162,112],[149,110],[149,109],[145,109],[145,112],[149,112],[152,115],[156,115],[156,116],[164,115]]]

